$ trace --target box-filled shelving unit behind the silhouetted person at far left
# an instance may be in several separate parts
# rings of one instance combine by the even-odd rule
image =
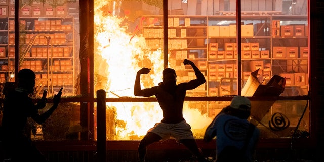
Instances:
[[[0,84],[3,88],[5,82],[14,81],[11,74],[15,69],[15,21],[13,17],[0,19]],[[73,17],[20,18],[20,57],[23,58],[20,69],[35,72],[36,96],[41,96],[44,89],[54,95],[61,87],[64,87],[63,95],[75,93],[73,26]]]

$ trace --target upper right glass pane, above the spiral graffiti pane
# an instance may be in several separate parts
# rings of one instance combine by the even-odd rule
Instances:
[[[259,86],[260,89],[277,87],[277,90],[268,89],[259,96],[268,93],[275,96],[307,95],[306,1],[261,1],[258,4],[243,1],[241,19],[244,23],[241,29],[242,95],[256,96],[258,85],[266,85]],[[255,72],[253,77],[251,72]]]

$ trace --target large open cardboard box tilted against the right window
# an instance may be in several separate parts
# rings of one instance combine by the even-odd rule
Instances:
[[[262,85],[258,78],[259,70],[253,71],[249,76],[246,84],[242,88],[242,96],[279,96],[285,90],[286,79],[274,75],[266,85]],[[261,121],[262,118],[270,110],[275,101],[251,101],[251,117],[256,121]]]

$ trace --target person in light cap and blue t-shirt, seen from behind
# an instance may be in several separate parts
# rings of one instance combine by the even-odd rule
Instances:
[[[229,106],[214,118],[207,127],[204,141],[209,142],[216,136],[216,161],[234,161],[235,153],[242,152],[239,161],[252,161],[252,152],[260,136],[260,131],[247,119],[251,114],[251,102],[247,97],[235,96]],[[235,148],[237,152],[228,155],[225,148]],[[224,155],[226,154],[226,155]]]

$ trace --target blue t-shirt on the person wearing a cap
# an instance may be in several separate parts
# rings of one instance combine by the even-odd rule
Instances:
[[[228,114],[219,114],[207,128],[205,136],[213,138],[216,136],[216,156],[225,146],[235,146],[241,149],[246,141],[250,123],[246,119],[241,119]],[[249,140],[246,156],[252,161],[251,153],[259,139],[260,131],[255,128]]]

